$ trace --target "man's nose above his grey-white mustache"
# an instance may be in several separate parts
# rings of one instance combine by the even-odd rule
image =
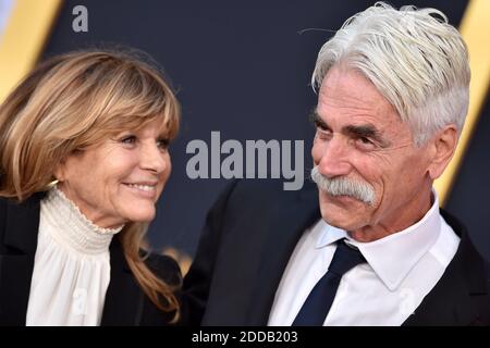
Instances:
[[[327,177],[347,175],[352,171],[350,148],[346,141],[338,136],[320,145],[318,170]]]

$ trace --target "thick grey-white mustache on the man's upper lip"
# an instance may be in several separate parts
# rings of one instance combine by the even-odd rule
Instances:
[[[318,165],[311,170],[311,179],[329,195],[348,196],[369,206],[375,202],[375,188],[368,183],[352,181],[345,176],[328,178],[320,174]]]

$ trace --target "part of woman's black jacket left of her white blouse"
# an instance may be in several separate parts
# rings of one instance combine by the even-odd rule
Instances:
[[[25,325],[42,197],[37,194],[23,203],[5,206],[8,252],[0,256],[0,323],[4,325]]]

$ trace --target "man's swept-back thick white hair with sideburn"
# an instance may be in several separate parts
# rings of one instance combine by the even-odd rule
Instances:
[[[409,124],[417,146],[468,111],[469,64],[462,36],[436,9],[377,2],[345,21],[321,48],[311,78],[321,86],[335,64],[364,74]]]

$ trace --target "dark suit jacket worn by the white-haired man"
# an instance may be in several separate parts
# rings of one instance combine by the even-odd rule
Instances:
[[[489,324],[486,261],[454,217],[460,235],[454,259],[405,325]],[[233,183],[210,210],[196,258],[184,279],[193,322],[203,325],[266,325],[275,290],[305,228],[320,219],[318,190],[305,183]],[[205,308],[206,306],[206,308]]]

